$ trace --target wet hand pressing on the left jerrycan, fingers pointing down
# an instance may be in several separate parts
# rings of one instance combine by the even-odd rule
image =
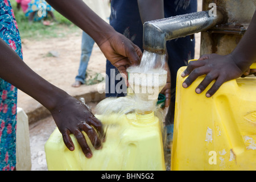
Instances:
[[[82,131],[88,135],[94,148],[101,148],[104,136],[101,122],[76,98],[68,96],[50,111],[69,150],[73,151],[75,149],[72,139],[69,137],[69,134],[74,134],[86,158],[92,157],[92,151]]]

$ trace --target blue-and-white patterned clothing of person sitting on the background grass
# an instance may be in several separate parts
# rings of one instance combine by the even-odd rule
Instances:
[[[39,21],[47,16],[48,11],[54,11],[54,9],[44,0],[31,0],[30,3],[28,3],[25,15],[29,16],[32,12],[35,11],[40,11],[40,13],[42,13],[40,16],[38,13],[36,13],[34,16],[34,21]]]

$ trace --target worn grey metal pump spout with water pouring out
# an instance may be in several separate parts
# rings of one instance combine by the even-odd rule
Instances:
[[[164,54],[166,41],[181,38],[208,30],[222,23],[224,15],[217,11],[210,16],[209,11],[172,16],[145,22],[143,25],[143,49],[148,52]]]

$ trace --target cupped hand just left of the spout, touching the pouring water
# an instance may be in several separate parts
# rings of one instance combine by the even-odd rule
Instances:
[[[106,59],[108,59],[121,74],[126,76],[127,82],[128,74],[126,69],[130,65],[139,65],[142,57],[141,49],[118,32],[110,36],[110,38],[99,47]]]

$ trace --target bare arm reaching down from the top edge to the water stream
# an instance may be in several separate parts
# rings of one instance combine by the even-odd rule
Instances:
[[[139,64],[141,49],[114,30],[81,0],[47,0],[55,10],[85,31],[98,44],[105,57],[127,77],[126,68]]]

